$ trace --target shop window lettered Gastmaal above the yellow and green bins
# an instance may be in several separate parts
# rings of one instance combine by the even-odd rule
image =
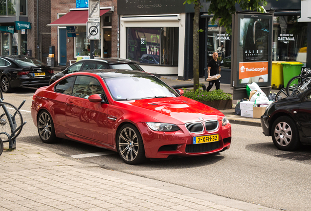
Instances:
[[[279,16],[273,19],[273,61],[307,61],[307,22],[298,22],[297,16]]]

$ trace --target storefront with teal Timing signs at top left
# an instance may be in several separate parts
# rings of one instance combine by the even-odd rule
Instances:
[[[19,15],[17,15],[19,14]],[[27,0],[2,0],[0,4],[1,55],[27,54]]]

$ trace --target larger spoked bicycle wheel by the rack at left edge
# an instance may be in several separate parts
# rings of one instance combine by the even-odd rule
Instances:
[[[20,127],[23,123],[21,112],[12,104],[0,103],[0,131],[6,132],[11,136],[11,139],[15,139],[22,131]],[[16,130],[20,127],[18,130]],[[3,142],[8,141],[8,137],[4,134],[0,134],[0,139]]]

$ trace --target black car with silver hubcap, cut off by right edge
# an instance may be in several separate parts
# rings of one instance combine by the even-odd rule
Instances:
[[[311,145],[311,89],[272,103],[261,117],[266,136],[281,150]]]

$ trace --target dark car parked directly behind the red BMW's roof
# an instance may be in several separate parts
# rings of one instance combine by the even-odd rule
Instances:
[[[128,59],[102,58],[102,59],[83,59],[70,66],[62,72],[55,74],[49,84],[53,84],[58,79],[68,73],[91,70],[91,69],[133,69],[144,71],[138,64]]]

